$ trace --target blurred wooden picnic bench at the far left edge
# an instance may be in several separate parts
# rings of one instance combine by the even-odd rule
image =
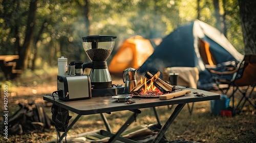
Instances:
[[[4,72],[6,80],[14,79],[22,69],[15,69],[18,55],[0,55],[0,70]]]

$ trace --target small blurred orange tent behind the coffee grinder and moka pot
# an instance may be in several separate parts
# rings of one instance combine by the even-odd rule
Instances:
[[[122,73],[126,68],[139,68],[154,52],[150,40],[142,36],[126,39],[109,65],[110,73]]]

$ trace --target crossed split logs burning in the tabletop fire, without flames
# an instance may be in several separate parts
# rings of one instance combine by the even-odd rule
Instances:
[[[135,86],[131,90],[131,92],[133,94],[138,95],[142,91],[143,87],[145,87],[145,83],[144,83],[145,80],[146,80],[146,84],[150,84],[153,80],[153,84],[164,94],[174,91],[173,90],[174,86],[161,80],[159,78],[160,75],[161,75],[161,71],[158,71],[155,75],[152,75],[149,71],[147,71],[145,74],[145,78],[142,80],[143,82],[141,83],[141,81],[138,81],[137,86]]]

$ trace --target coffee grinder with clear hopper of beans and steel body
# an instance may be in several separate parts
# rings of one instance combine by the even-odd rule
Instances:
[[[92,85],[92,96],[115,96],[116,87],[112,87],[112,78],[106,59],[109,58],[116,36],[91,35],[82,37],[82,46],[91,62],[82,65],[82,71],[91,68],[90,79]]]

